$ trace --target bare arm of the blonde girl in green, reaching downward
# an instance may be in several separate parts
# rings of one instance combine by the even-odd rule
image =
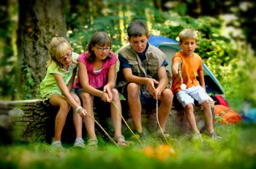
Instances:
[[[74,72],[73,72],[73,74],[74,74]],[[85,117],[86,113],[87,113],[86,110],[84,110],[74,100],[74,98],[72,97],[72,95],[69,92],[67,85],[65,84],[64,80],[62,79],[62,76],[60,74],[54,74],[54,78],[56,79],[56,83],[57,83],[59,89],[61,90],[61,93],[64,95],[64,97],[66,98],[66,100],[70,104],[70,106],[72,106],[72,108],[74,108],[75,111],[77,113],[79,113],[81,117]]]

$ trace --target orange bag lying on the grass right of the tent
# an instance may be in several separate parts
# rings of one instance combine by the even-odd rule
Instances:
[[[242,121],[241,114],[238,114],[238,112],[234,111],[230,107],[215,105],[214,111],[214,119],[220,122],[222,125],[227,125],[228,123],[234,125],[235,123]]]

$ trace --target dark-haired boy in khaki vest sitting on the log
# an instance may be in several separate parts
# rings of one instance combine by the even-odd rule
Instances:
[[[129,44],[118,52],[120,68],[117,89],[129,104],[129,111],[135,127],[134,132],[142,136],[141,105],[154,108],[159,104],[159,124],[163,131],[173,103],[173,93],[168,87],[167,61],[165,54],[148,44],[147,25],[140,20],[130,23],[127,28]],[[155,87],[157,86],[157,87]],[[159,130],[160,131],[160,130]],[[165,135],[167,136],[167,134]]]

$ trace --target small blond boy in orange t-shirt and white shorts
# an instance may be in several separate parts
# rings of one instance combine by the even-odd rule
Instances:
[[[172,59],[173,85],[171,89],[185,109],[187,121],[194,132],[194,137],[201,139],[193,113],[195,99],[203,106],[208,132],[211,138],[215,140],[217,135],[214,133],[211,112],[212,99],[206,93],[202,59],[194,52],[197,47],[197,33],[192,29],[181,31],[179,34],[179,46],[182,50],[176,52]],[[197,75],[200,83],[197,81]]]

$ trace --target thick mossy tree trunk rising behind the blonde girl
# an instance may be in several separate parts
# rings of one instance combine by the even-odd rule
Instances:
[[[38,98],[39,83],[45,77],[53,36],[66,37],[66,22],[61,0],[19,0],[18,23],[18,98]]]

